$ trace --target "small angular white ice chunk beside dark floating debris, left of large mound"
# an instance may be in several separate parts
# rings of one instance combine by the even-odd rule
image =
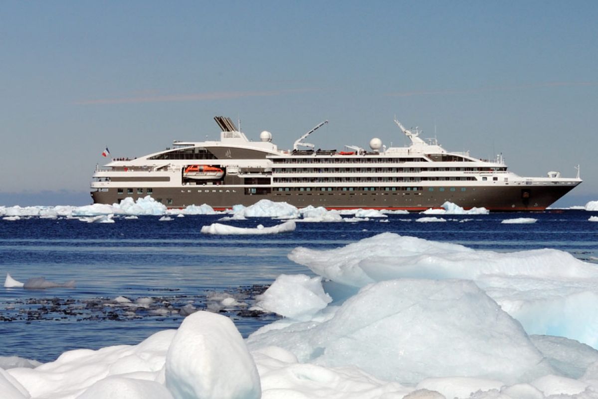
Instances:
[[[256,299],[256,305],[264,310],[303,321],[332,301],[322,288],[322,278],[306,275],[280,275]]]

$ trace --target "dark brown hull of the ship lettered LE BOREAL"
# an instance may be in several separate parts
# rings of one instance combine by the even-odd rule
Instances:
[[[490,211],[543,211],[564,196],[575,185],[510,185],[501,187],[454,187],[446,191],[272,191],[264,194],[246,194],[245,188],[214,186],[192,189],[154,188],[151,196],[168,208],[184,208],[204,203],[214,209],[230,209],[233,205],[249,206],[261,199],[286,202],[297,208],[308,205],[324,206],[328,209],[406,209],[421,211],[440,208],[449,201],[465,209],[486,208]],[[125,197],[145,197],[147,194],[117,194],[115,188],[108,191],[93,191],[94,203],[118,203]]]

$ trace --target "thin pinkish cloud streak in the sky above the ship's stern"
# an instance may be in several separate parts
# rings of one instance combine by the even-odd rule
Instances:
[[[265,97],[279,96],[288,93],[306,93],[316,92],[319,89],[288,89],[288,90],[270,90],[264,92],[213,92],[213,93],[193,93],[187,95],[151,95],[136,96],[124,98],[106,98],[81,100],[75,102],[77,105],[98,105],[98,104],[135,104],[144,102],[184,102],[184,101],[202,101],[202,100],[222,100],[243,97]]]

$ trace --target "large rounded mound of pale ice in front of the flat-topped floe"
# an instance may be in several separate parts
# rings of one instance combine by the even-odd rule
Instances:
[[[257,331],[248,345],[276,345],[302,362],[352,365],[401,383],[444,376],[515,383],[554,372],[521,325],[471,281],[371,284],[328,321]]]

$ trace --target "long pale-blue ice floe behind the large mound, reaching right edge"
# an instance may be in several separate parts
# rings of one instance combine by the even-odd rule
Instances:
[[[471,279],[527,333],[568,337],[598,348],[598,269],[568,252],[476,251],[383,233],[327,251],[295,248],[289,259],[345,286],[335,288],[344,296],[354,292],[350,287],[391,279]],[[334,291],[327,292],[337,300]]]

